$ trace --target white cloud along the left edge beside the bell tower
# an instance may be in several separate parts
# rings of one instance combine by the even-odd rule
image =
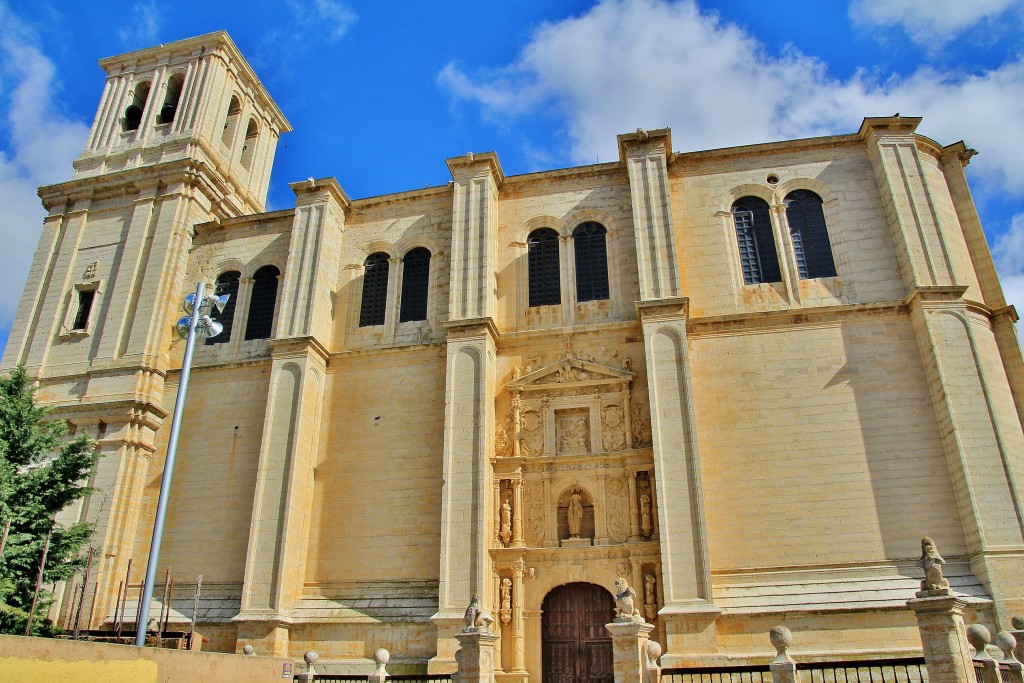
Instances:
[[[0,90],[9,93],[0,117],[0,329],[13,318],[45,212],[36,187],[67,180],[85,147],[88,127],[59,114],[53,63],[39,40],[0,4]]]

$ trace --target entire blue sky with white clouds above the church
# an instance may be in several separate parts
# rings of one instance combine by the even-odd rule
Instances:
[[[39,238],[40,184],[71,177],[96,60],[225,29],[291,121],[269,208],[334,176],[355,198],[615,158],[850,133],[865,116],[980,152],[972,190],[1024,311],[1024,0],[40,2],[0,0],[0,344]]]

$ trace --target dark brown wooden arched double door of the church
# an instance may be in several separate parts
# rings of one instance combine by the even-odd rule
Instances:
[[[542,605],[544,683],[613,683],[611,594],[594,584],[559,586]]]

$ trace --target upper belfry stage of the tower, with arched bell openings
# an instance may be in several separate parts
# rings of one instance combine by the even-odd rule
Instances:
[[[263,211],[291,130],[223,31],[100,60],[106,86],[75,179],[190,160],[215,182],[218,217]]]

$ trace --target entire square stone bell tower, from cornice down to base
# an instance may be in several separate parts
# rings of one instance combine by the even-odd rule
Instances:
[[[47,216],[0,366],[25,365],[41,402],[104,454],[95,493],[61,513],[95,525],[90,627],[113,613],[139,525],[152,523],[142,489],[159,481],[157,435],[176,391],[165,381],[195,286],[182,282],[193,226],[262,212],[291,130],[224,32],[99,65],[106,83],[74,176],[39,189]],[[137,580],[144,555],[134,559]]]

